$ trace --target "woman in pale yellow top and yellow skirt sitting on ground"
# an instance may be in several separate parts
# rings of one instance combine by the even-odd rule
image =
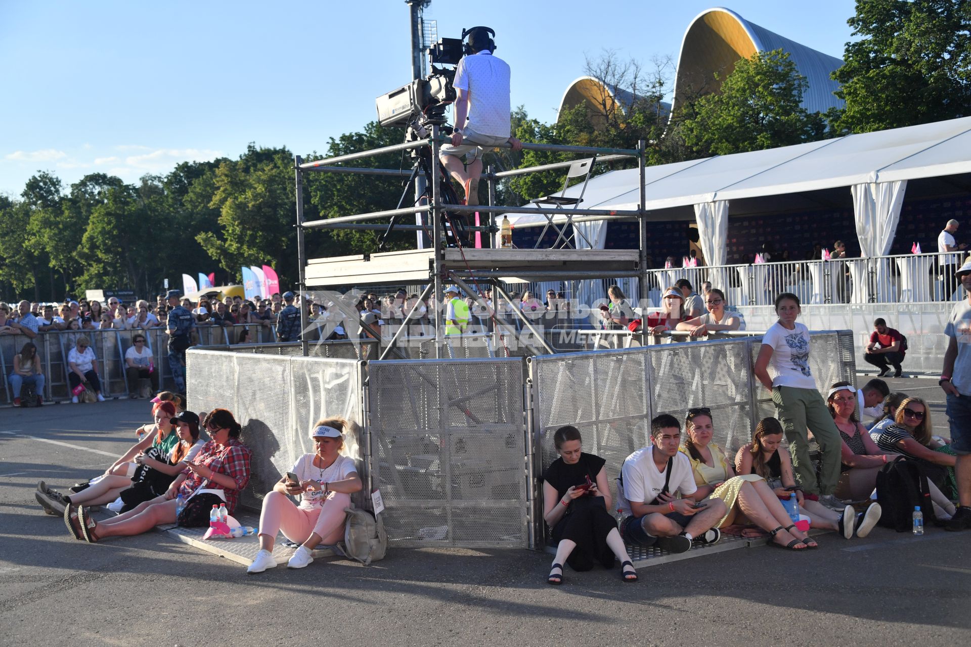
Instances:
[[[712,442],[715,429],[712,412],[707,406],[687,410],[685,429],[687,437],[682,451],[691,462],[699,500],[720,499],[727,510],[716,528],[751,521],[772,535],[777,546],[789,550],[819,546],[815,539],[796,529],[786,508],[764,478],[758,474],[735,475],[721,447]]]

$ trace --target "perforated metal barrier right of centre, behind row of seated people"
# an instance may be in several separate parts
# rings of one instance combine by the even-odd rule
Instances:
[[[553,432],[573,425],[586,451],[606,459],[613,483],[623,460],[650,444],[654,416],[670,413],[684,421],[694,406],[711,408],[713,440],[733,459],[758,421],[777,415],[771,395],[752,372],[760,345],[759,336],[530,358],[532,471],[541,474],[556,459]],[[812,333],[810,358],[820,391],[839,380],[854,382],[853,333]],[[536,479],[530,481],[530,496],[535,522],[530,531],[537,546],[544,534]]]

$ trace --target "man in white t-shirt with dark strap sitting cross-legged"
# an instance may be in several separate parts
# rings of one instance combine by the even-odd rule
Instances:
[[[655,417],[651,441],[623,462],[618,491],[620,508],[629,515],[623,522],[624,538],[642,546],[656,544],[669,553],[684,553],[692,540],[717,542],[721,533],[714,526],[725,515],[725,504],[720,499],[697,502],[691,463],[678,451],[678,419],[667,413]]]

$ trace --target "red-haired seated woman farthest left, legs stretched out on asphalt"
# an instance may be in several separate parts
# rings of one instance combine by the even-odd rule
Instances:
[[[69,504],[103,505],[115,501],[122,490],[131,487],[131,478],[138,469],[135,458],[152,447],[163,456],[168,456],[179,442],[179,436],[172,426],[176,408],[172,403],[158,403],[151,407],[155,417],[154,432],[136,442],[101,476],[88,481],[87,485],[76,485],[70,495],[63,495],[40,481],[34,497],[49,514],[62,515]]]

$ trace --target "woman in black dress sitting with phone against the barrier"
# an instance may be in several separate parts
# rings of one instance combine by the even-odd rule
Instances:
[[[543,519],[558,541],[548,581],[563,582],[563,563],[574,570],[589,570],[599,562],[605,568],[620,560],[624,582],[636,582],[637,571],[627,555],[611,508],[604,461],[581,450],[576,427],[560,427],[553,434],[559,458],[543,473]],[[592,485],[586,487],[586,483]]]

